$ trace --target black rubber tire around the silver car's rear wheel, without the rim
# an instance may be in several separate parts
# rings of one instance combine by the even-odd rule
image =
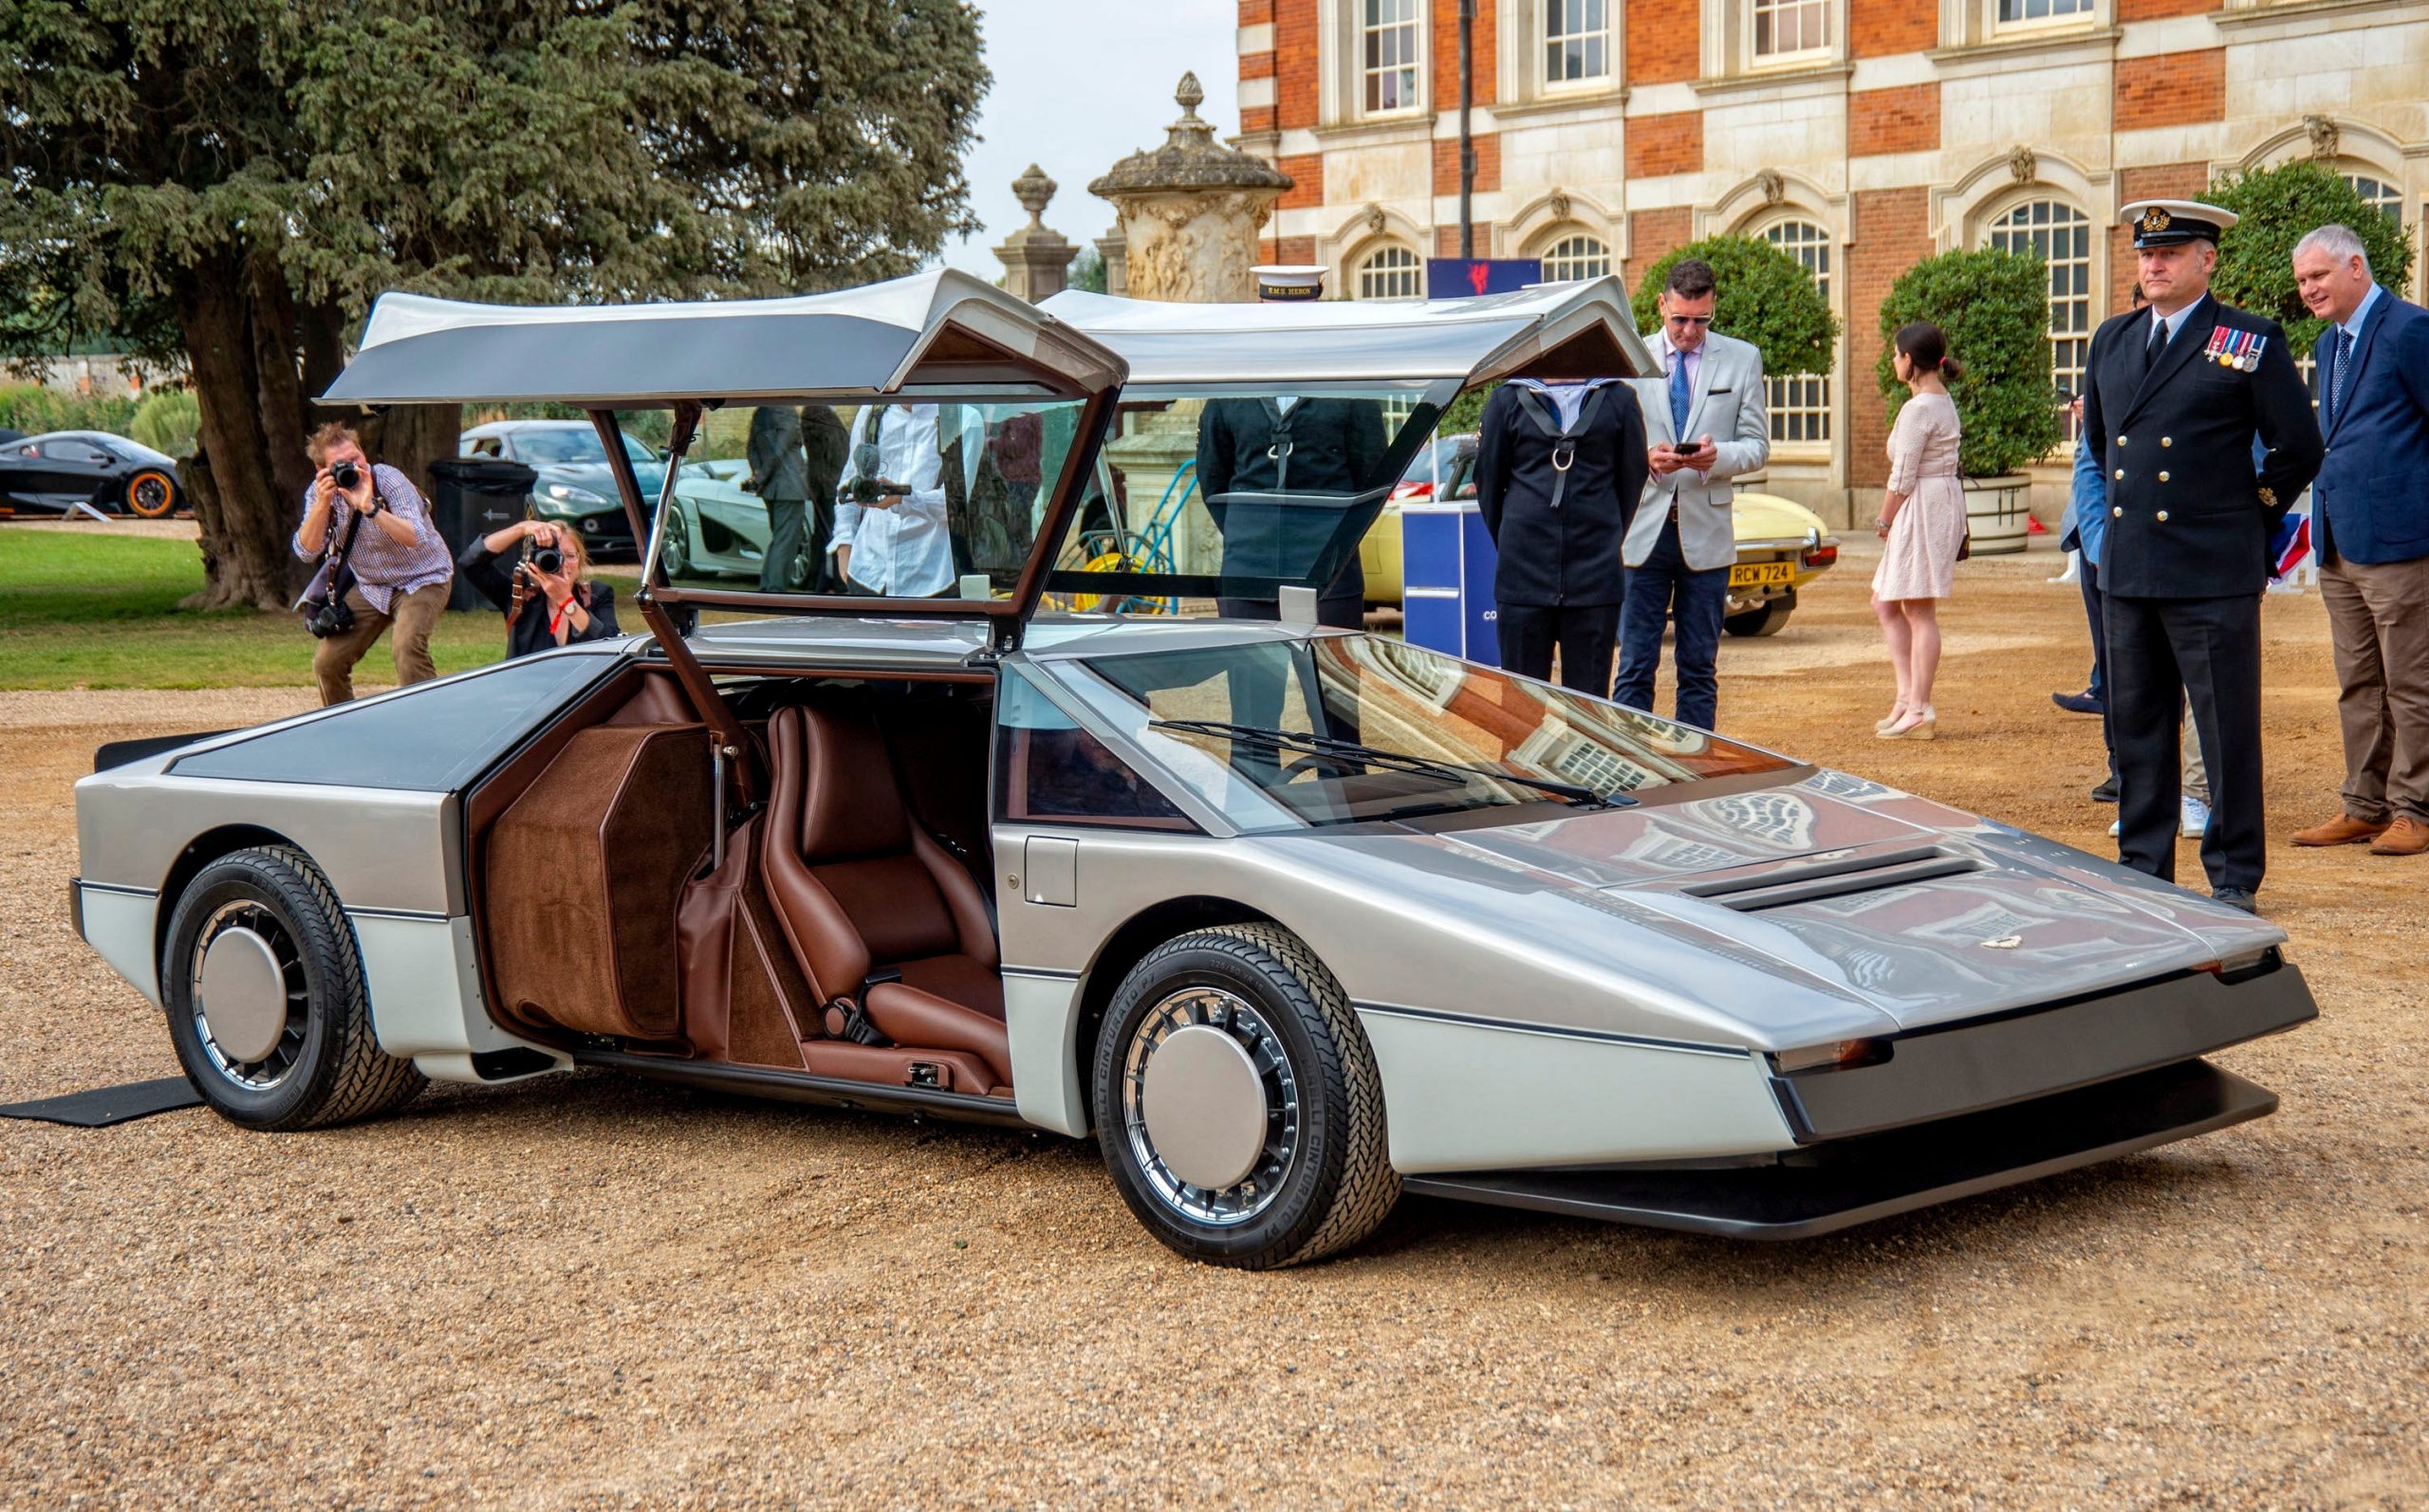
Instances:
[[[245,1087],[231,1080],[211,1063],[194,1027],[194,939],[226,903],[257,903],[277,915],[304,964],[304,988],[311,993],[304,1010],[304,1048],[296,1051],[294,1068],[274,1087]],[[340,944],[338,930],[350,932],[352,927],[342,917],[328,917],[311,883],[289,862],[257,849],[211,862],[177,898],[168,944],[160,951],[160,1007],[168,1012],[168,1034],[177,1046],[177,1063],[187,1080],[231,1124],[304,1129],[325,1104],[328,1085],[340,1070],[333,1039],[350,997],[362,993],[362,968],[355,964],[352,939]],[[355,973],[355,978],[347,980],[345,973]]]

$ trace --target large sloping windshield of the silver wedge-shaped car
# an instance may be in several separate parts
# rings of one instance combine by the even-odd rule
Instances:
[[[1086,667],[1103,682],[1078,692],[1249,832],[1591,801],[1790,767],[1385,636],[1103,655]]]

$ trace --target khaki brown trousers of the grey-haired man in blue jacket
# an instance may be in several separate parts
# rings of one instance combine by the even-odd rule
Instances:
[[[2429,556],[2320,563],[2337,648],[2344,811],[2429,823]]]

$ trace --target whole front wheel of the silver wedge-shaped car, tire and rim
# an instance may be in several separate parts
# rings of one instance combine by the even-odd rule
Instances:
[[[1399,1201],[1375,1051],[1341,983],[1275,925],[1183,934],[1132,966],[1091,1085],[1122,1201],[1190,1260],[1321,1260]]]

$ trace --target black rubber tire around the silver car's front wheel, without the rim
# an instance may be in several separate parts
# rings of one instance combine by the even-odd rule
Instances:
[[[1195,985],[1246,997],[1283,1041],[1300,1090],[1300,1155],[1283,1177],[1283,1196],[1236,1228],[1195,1223],[1168,1209],[1139,1170],[1122,1124],[1120,1080],[1132,1034],[1159,1002]],[[1341,1189],[1346,1131],[1338,1121],[1348,1112],[1348,1087],[1338,1048],[1307,988],[1253,942],[1232,934],[1188,934],[1139,961],[1105,1012],[1091,1095],[1098,1146],[1122,1201],[1159,1240],[1193,1260],[1283,1264],[1317,1233]]]

